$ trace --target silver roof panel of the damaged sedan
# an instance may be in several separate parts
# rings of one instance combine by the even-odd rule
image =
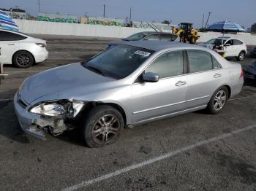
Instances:
[[[181,43],[181,42],[167,42],[167,41],[129,41],[121,42],[120,44],[126,44],[134,47],[142,47],[148,50],[165,50],[165,49],[186,49],[186,48],[195,48],[201,50],[207,50],[205,47],[198,45]]]

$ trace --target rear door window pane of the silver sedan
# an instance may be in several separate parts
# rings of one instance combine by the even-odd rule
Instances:
[[[187,50],[189,72],[208,71],[212,69],[211,55],[202,50]]]

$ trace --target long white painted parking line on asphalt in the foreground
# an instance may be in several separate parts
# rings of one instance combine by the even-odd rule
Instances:
[[[246,128],[241,128],[241,129],[238,129],[238,130],[233,130],[231,133],[225,133],[225,134],[222,134],[220,136],[214,136],[211,139],[207,139],[207,140],[204,140],[204,141],[199,141],[196,144],[192,144],[192,145],[189,145],[187,147],[182,147],[181,149],[178,149],[176,151],[167,152],[165,155],[160,155],[159,157],[154,157],[154,158],[152,158],[150,160],[145,160],[142,163],[130,165],[127,168],[119,169],[119,170],[114,171],[114,172],[112,172],[110,174],[105,174],[103,176],[99,176],[99,177],[97,177],[95,179],[91,179],[91,180],[88,180],[88,181],[80,182],[79,184],[75,184],[74,186],[64,188],[63,190],[64,191],[77,190],[80,187],[86,187],[86,186],[89,186],[90,184],[101,182],[102,180],[105,180],[105,179],[110,179],[110,178],[112,178],[114,176],[118,176],[120,174],[127,173],[127,172],[132,171],[132,170],[137,169],[137,168],[141,168],[144,165],[150,165],[151,163],[155,163],[157,161],[164,160],[164,159],[166,159],[168,157],[173,157],[174,155],[177,155],[177,154],[179,154],[181,152],[185,152],[185,151],[194,149],[195,147],[200,147],[202,145],[209,144],[209,143],[211,143],[213,141],[217,141],[217,140],[220,140],[220,139],[225,139],[225,138],[227,138],[229,136],[236,135],[238,133],[244,132],[246,130],[250,130],[252,128],[256,128],[256,124],[248,126]]]

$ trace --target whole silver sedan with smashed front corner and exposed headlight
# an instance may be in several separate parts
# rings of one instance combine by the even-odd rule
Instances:
[[[102,147],[126,126],[200,109],[217,114],[243,82],[239,63],[205,47],[123,41],[88,61],[29,77],[14,105],[26,133],[45,139],[79,128],[89,147]]]

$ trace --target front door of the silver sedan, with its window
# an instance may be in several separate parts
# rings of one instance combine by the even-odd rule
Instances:
[[[157,119],[184,109],[187,76],[184,75],[183,51],[159,55],[145,72],[158,74],[159,81],[136,81],[132,85],[132,116],[135,123]]]

